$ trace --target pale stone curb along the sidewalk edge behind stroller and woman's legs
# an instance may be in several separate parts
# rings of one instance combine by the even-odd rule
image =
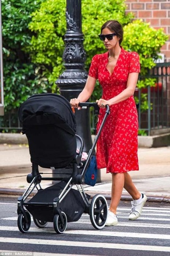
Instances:
[[[12,195],[12,196],[20,196],[23,195],[25,192],[24,189],[10,189],[10,188],[0,188],[0,195]],[[86,192],[86,190],[85,190]],[[94,195],[96,194],[103,194],[107,200],[111,200],[111,194],[108,192],[102,192],[102,191],[97,191],[97,192],[90,192],[87,191],[87,194],[90,195],[90,198],[93,198]],[[32,195],[35,195],[36,192],[32,192]],[[156,203],[170,203],[170,197],[165,196],[165,195],[146,195],[147,196],[147,201],[149,202],[156,202]],[[121,201],[132,201],[132,197],[129,194],[122,194]]]

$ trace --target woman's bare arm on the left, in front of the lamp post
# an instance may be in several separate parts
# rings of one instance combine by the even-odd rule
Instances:
[[[84,86],[84,89],[82,90],[82,92],[78,95],[77,98],[70,100],[70,104],[71,104],[72,107],[77,108],[78,104],[80,102],[86,102],[89,99],[89,97],[93,93],[96,80],[97,79],[95,79],[93,77],[90,77],[88,75],[86,85]]]

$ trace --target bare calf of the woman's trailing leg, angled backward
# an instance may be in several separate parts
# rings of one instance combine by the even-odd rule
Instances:
[[[127,190],[127,192],[131,195],[133,200],[137,200],[141,196],[141,193],[134,186],[134,183],[132,182],[132,178],[128,172],[124,173],[124,189]]]

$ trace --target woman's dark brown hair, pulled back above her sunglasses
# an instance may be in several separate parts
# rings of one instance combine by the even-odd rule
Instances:
[[[123,41],[123,28],[122,25],[117,20],[108,20],[101,27],[101,34],[103,29],[110,29],[112,32],[115,32],[116,36],[120,38],[119,44]]]

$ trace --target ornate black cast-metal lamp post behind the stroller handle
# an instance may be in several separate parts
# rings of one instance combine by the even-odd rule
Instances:
[[[56,84],[60,88],[61,95],[70,101],[80,94],[87,79],[87,72],[84,70],[86,53],[83,49],[81,0],[66,1],[66,23],[66,45],[63,54],[66,69],[56,80]],[[77,134],[83,138],[84,151],[88,152],[92,147],[89,110],[76,110],[75,117]]]

